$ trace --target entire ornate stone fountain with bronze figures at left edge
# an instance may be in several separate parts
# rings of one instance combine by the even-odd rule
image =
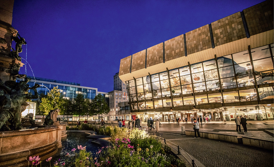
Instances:
[[[14,1],[0,3],[0,166],[28,166],[30,156],[39,155],[44,160],[57,153],[62,146],[61,137],[66,136],[66,125],[52,120],[53,125],[21,130],[21,112],[28,105],[26,100],[38,98],[39,85],[29,88],[29,79],[18,73],[24,65],[19,53],[26,41],[11,26]],[[21,81],[15,82],[16,78]],[[29,89],[35,94],[28,94]]]

